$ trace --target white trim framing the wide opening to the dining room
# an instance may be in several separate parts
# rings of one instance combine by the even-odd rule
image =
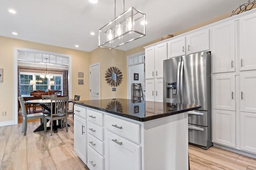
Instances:
[[[61,54],[61,53],[54,53],[54,52],[49,52],[49,51],[42,51],[42,50],[36,50],[36,49],[28,49],[28,48],[22,48],[22,47],[14,47],[13,51],[13,57],[14,57],[14,76],[13,76],[13,82],[14,82],[14,96],[13,96],[13,101],[14,101],[14,122],[13,124],[18,124],[18,113],[16,112],[18,110],[18,50],[23,50],[23,51],[31,51],[31,52],[36,52],[36,53],[45,53],[45,54],[51,54],[51,55],[59,55],[59,56],[64,56],[68,57],[69,59],[69,64],[68,64],[68,96],[72,96],[72,55],[67,55],[67,54]]]

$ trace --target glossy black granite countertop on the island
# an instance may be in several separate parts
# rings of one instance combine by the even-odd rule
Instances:
[[[199,109],[201,106],[130,99],[82,100],[72,103],[137,121],[149,121]]]

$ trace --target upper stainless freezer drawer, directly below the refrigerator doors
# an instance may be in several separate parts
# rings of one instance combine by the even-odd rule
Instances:
[[[188,111],[188,124],[208,126],[208,111]]]

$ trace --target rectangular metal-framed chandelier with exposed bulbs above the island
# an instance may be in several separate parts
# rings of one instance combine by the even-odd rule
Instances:
[[[99,29],[99,47],[114,49],[146,35],[146,14],[131,7],[116,17],[116,0],[114,13],[114,20]]]

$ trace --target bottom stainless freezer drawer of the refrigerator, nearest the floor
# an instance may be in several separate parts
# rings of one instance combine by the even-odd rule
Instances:
[[[188,142],[207,147],[208,127],[188,124]]]

